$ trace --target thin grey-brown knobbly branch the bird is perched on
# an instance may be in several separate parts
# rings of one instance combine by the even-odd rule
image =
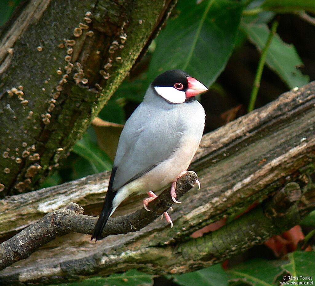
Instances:
[[[197,175],[192,171],[178,179],[177,198],[181,198],[193,188],[196,180]],[[102,232],[103,237],[136,232],[157,219],[174,203],[169,192],[170,188],[164,190],[157,199],[149,203],[148,208],[152,210],[151,212],[142,208],[133,214],[110,218]],[[83,208],[74,203],[48,213],[14,237],[0,244],[0,270],[16,261],[25,259],[56,236],[70,232],[92,234],[96,220],[93,216],[83,215]]]

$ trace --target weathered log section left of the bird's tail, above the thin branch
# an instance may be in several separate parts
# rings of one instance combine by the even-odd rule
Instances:
[[[101,204],[108,186],[108,172],[0,200],[0,235],[16,232],[49,211],[75,202],[82,207]]]

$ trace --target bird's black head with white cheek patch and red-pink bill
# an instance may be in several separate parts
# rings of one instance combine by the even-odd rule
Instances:
[[[168,70],[152,82],[157,95],[169,103],[192,102],[195,96],[207,90],[201,82],[182,70]]]

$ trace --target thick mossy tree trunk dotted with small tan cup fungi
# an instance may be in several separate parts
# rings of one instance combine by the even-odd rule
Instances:
[[[175,2],[23,2],[0,35],[0,198],[66,158]]]

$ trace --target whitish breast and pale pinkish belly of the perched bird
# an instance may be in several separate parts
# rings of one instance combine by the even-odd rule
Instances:
[[[198,101],[182,104],[175,114],[170,111],[169,114],[165,114],[165,118],[165,121],[159,122],[160,126],[164,126],[170,120],[180,126],[178,146],[181,147],[142,177],[119,188],[112,202],[113,211],[131,193],[146,193],[150,190],[154,192],[166,187],[176,181],[180,173],[186,171],[190,165],[203,133],[205,114],[202,105]]]

